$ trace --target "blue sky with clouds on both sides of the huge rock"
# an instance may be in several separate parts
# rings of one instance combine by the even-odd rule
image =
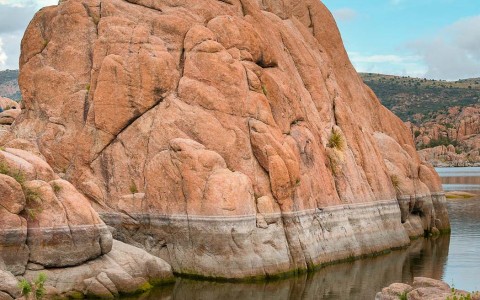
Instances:
[[[17,69],[35,12],[58,0],[0,0],[0,70]],[[359,72],[480,77],[480,0],[324,0]]]

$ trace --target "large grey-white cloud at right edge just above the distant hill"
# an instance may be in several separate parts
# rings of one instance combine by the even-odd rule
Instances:
[[[480,15],[461,19],[408,47],[425,61],[428,78],[480,77]]]

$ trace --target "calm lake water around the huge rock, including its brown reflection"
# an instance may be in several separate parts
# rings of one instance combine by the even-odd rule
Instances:
[[[445,190],[480,191],[480,168],[439,168]],[[374,299],[393,282],[442,279],[457,289],[480,290],[480,197],[449,200],[450,236],[418,239],[404,250],[328,266],[315,273],[262,283],[216,283],[178,278],[175,284],[127,299]]]

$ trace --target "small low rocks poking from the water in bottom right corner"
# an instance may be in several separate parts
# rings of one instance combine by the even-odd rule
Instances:
[[[410,286],[404,283],[393,283],[389,287],[378,292],[375,300],[397,300],[401,295],[409,300],[444,300],[458,299],[470,295],[472,300],[480,299],[479,293],[469,293],[466,291],[455,290],[443,281],[425,277],[415,277]]]

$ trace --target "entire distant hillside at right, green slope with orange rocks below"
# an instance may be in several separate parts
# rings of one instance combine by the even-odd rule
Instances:
[[[480,166],[480,78],[449,82],[360,75],[407,123],[425,160],[434,166]]]

